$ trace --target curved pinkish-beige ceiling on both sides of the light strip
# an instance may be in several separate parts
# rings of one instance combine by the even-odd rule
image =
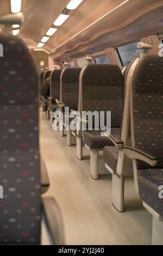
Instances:
[[[30,48],[37,46],[68,2],[70,0],[22,0],[25,22],[20,34]],[[155,13],[154,20],[161,15],[155,11],[158,2],[163,5],[163,0],[83,0],[79,8],[73,11],[46,42],[44,48],[53,58],[62,58],[73,56],[77,51],[86,51],[89,46],[97,46],[97,42],[108,44],[106,35],[110,41],[114,33],[123,34],[127,38],[133,33],[134,26],[142,24],[143,17],[149,18],[150,13]],[[0,0],[0,5],[0,16],[10,13],[9,0]],[[154,5],[155,9],[150,9],[151,5]],[[145,7],[147,12],[144,10]],[[160,22],[160,26],[162,24]]]

